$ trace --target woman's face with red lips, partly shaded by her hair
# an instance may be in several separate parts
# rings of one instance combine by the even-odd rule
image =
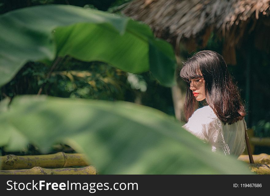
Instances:
[[[189,88],[192,90],[193,96],[195,96],[197,101],[202,101],[205,99],[203,78],[189,79],[189,85]]]

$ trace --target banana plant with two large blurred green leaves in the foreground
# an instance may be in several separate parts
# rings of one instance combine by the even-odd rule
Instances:
[[[130,18],[75,6],[18,9],[0,17],[0,85],[29,61],[51,70],[66,55],[131,73],[147,70],[174,84],[172,47]],[[63,142],[102,174],[250,174],[246,164],[213,154],[168,115],[128,102],[15,96],[0,104],[0,146],[43,153]],[[232,167],[233,165],[233,167]]]

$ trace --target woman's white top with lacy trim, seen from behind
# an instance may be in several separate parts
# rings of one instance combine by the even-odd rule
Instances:
[[[244,119],[243,121],[225,125],[210,106],[204,106],[197,109],[182,127],[212,145],[213,152],[219,151],[239,157],[246,147],[246,122]]]

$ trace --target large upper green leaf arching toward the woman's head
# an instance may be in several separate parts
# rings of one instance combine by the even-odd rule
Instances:
[[[0,29],[0,86],[26,62],[51,63],[58,55],[132,73],[150,70],[162,84],[172,85],[172,46],[127,17],[69,5],[33,6],[1,15]]]

